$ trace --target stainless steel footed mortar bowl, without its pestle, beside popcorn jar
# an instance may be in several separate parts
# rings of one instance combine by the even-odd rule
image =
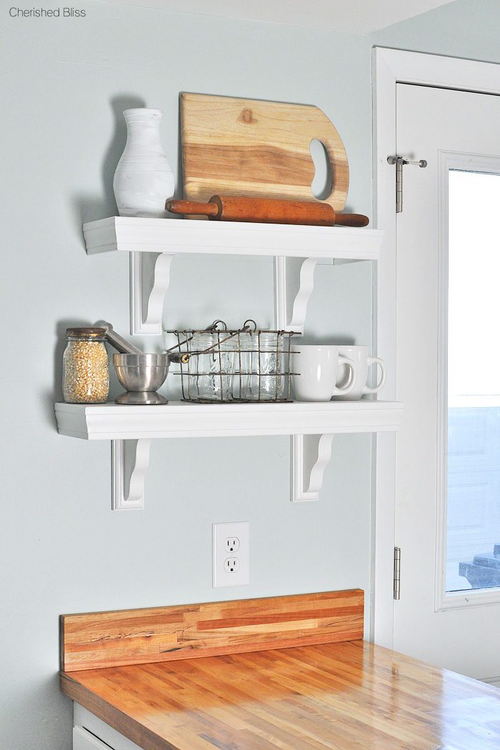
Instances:
[[[121,385],[127,389],[118,404],[166,404],[156,393],[169,372],[168,354],[113,354],[113,365]],[[141,394],[151,394],[151,398]],[[136,396],[134,397],[134,394]]]

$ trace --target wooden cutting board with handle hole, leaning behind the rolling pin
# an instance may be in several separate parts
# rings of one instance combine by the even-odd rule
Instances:
[[[184,196],[215,193],[315,201],[310,142],[321,141],[332,169],[326,203],[342,211],[349,188],[346,149],[318,107],[204,94],[181,95]]]

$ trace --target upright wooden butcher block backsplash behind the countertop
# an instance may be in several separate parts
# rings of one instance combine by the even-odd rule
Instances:
[[[332,643],[363,637],[359,589],[61,616],[61,669]]]

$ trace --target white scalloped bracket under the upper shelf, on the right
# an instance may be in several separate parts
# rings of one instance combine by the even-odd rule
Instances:
[[[304,333],[317,263],[318,258],[274,258],[274,316],[277,330]]]

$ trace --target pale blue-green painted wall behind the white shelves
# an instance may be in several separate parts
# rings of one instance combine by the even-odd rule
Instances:
[[[368,437],[338,437],[322,499],[297,505],[284,438],[157,441],[145,511],[129,514],[109,509],[109,445],[58,437],[64,329],[106,318],[127,332],[127,258],[86,257],[81,233],[115,213],[121,110],[164,110],[175,165],[180,91],[316,104],[346,144],[349,208],[370,214],[371,44],[496,59],[495,24],[474,36],[467,16],[495,6],[460,0],[375,37],[89,2],[85,19],[2,8],[1,750],[70,747],[60,613],[369,587]],[[370,343],[370,264],[322,266],[316,281],[307,335]],[[164,323],[265,326],[271,293],[268,260],[177,259]],[[245,589],[211,589],[211,523],[226,520],[251,523]]]

